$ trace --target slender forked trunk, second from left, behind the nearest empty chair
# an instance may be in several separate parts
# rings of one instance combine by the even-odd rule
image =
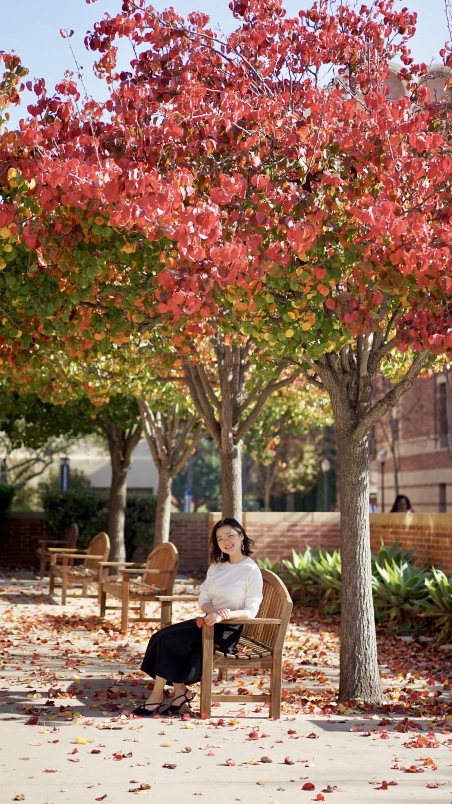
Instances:
[[[158,471],[155,547],[169,541],[173,478],[185,466],[206,431],[197,416],[184,416],[177,405],[163,413],[154,412],[145,400],[139,400],[138,406],[146,441]]]

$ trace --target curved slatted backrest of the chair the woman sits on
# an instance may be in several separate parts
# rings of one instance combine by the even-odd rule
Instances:
[[[252,637],[272,649],[282,649],[287,626],[291,619],[293,605],[291,596],[287,592],[283,581],[275,572],[271,572],[269,569],[263,569],[262,574],[263,601],[256,617],[276,617],[281,620],[281,625],[257,625],[256,623],[253,624],[250,622],[249,625],[243,626],[242,636]]]

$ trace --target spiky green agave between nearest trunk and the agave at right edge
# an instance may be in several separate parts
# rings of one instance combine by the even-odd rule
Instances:
[[[389,615],[389,621],[404,623],[418,613],[427,597],[426,572],[409,561],[384,560],[373,568],[372,587],[375,608]]]

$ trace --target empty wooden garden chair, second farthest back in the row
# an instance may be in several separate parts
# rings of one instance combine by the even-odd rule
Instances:
[[[61,578],[61,605],[66,605],[69,585],[81,583],[82,597],[88,597],[88,584],[99,581],[100,562],[106,561],[110,555],[110,539],[106,533],[98,533],[88,544],[86,550],[59,550],[50,548],[51,565],[49,594],[55,590],[55,578]],[[57,559],[61,563],[57,564]],[[76,564],[81,561],[81,564]],[[71,564],[70,564],[71,562]]]

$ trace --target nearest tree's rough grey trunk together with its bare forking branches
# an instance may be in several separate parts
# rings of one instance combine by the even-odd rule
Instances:
[[[372,406],[373,378],[393,347],[381,330],[361,335],[355,348],[310,361],[314,379],[331,398],[340,467],[342,606],[339,699],[381,703],[373,615],[369,539],[369,429],[411,388],[428,352],[419,353],[405,376]],[[319,381],[320,380],[320,381]]]

